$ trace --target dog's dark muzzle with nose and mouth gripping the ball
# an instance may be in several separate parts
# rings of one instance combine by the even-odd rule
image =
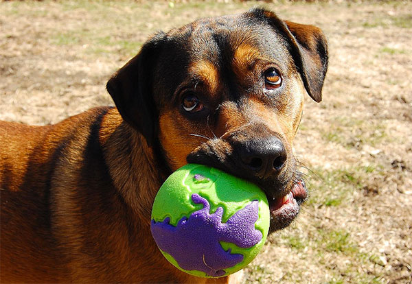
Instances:
[[[187,162],[216,167],[258,185],[268,198],[271,232],[288,226],[308,197],[293,155],[288,155],[282,139],[275,135],[211,139],[190,153]]]

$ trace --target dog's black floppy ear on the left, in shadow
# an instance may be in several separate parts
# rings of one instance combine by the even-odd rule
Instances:
[[[119,69],[106,84],[122,118],[151,145],[157,132],[157,109],[152,95],[152,67],[165,34],[150,38],[139,54]]]

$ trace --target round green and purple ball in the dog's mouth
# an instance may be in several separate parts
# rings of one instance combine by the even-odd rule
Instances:
[[[262,190],[205,165],[188,164],[163,183],[152,236],[176,268],[200,277],[232,274],[260,252],[270,213]]]

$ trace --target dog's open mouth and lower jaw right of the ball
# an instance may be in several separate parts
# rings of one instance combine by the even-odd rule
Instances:
[[[267,196],[267,193],[266,193]],[[271,226],[269,233],[286,228],[295,220],[300,205],[308,198],[308,189],[304,180],[298,180],[293,188],[283,197],[271,198],[267,196],[271,211]]]

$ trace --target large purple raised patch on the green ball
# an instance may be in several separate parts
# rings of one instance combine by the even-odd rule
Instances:
[[[259,218],[259,202],[253,200],[222,223],[223,209],[209,214],[209,202],[198,194],[192,195],[196,204],[203,209],[196,211],[187,219],[183,217],[176,226],[169,224],[170,218],[163,222],[152,220],[152,235],[157,246],[171,255],[184,270],[199,270],[209,276],[225,275],[225,268],[243,260],[243,255],[231,254],[224,250],[219,241],[236,244],[240,248],[251,248],[262,239],[260,230],[255,229]]]

